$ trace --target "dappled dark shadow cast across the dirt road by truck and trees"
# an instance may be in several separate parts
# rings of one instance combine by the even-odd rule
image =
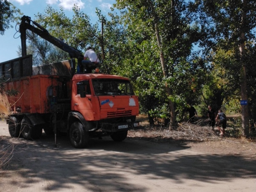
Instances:
[[[172,145],[127,138],[117,143],[104,138],[90,140],[87,149],[71,147],[66,136],[58,138],[57,148],[54,138],[45,135],[38,141],[9,138],[8,142],[16,143],[8,170],[18,172],[25,181],[21,186],[15,180],[10,184],[23,188],[38,182],[38,178],[53,181],[45,186],[45,190],[52,191],[72,183],[83,186],[83,190],[104,191],[111,186],[113,191],[120,191],[123,186],[128,191],[141,192],[148,189],[131,185],[127,175],[134,175],[135,179],[139,175],[151,175],[148,181],[160,177],[180,184],[183,179],[216,183],[223,179],[232,182],[233,178],[256,178],[254,159],[193,153],[186,145],[176,142]],[[8,177],[8,172],[4,176]]]

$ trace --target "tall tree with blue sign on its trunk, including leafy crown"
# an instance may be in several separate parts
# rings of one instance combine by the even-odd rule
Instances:
[[[209,36],[225,50],[236,50],[236,62],[240,66],[241,100],[248,100],[246,42],[255,41],[256,5],[254,0],[197,0],[201,16],[208,18]],[[205,15],[204,15],[205,14]],[[248,105],[241,106],[243,135],[249,135]]]

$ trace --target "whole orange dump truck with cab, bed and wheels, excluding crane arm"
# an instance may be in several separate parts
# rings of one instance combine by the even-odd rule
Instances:
[[[74,147],[82,148],[93,137],[110,135],[114,141],[123,141],[129,129],[139,126],[139,101],[129,79],[71,75],[69,61],[32,68],[29,57],[0,63],[6,80],[1,86],[13,110],[7,120],[12,137],[39,138],[42,130],[65,132]]]

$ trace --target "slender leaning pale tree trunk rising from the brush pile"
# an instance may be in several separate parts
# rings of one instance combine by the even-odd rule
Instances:
[[[149,0],[149,4],[152,10],[152,14],[153,14],[153,18],[154,18],[154,25],[155,25],[155,33],[156,33],[156,38],[157,38],[157,42],[158,42],[158,46],[159,46],[159,52],[160,52],[160,60],[161,60],[161,67],[163,70],[163,74],[164,74],[164,78],[166,79],[169,74],[166,70],[166,65],[165,65],[165,60],[164,60],[164,52],[163,52],[163,46],[162,46],[162,42],[161,42],[161,38],[160,38],[160,32],[159,32],[159,28],[158,28],[158,17],[157,14],[155,12],[155,7],[152,3],[151,0]],[[166,92],[167,92],[167,96],[169,97],[172,92],[170,87],[168,86],[167,82],[165,82],[165,88],[166,88]],[[174,110],[174,104],[173,102],[168,99],[169,101],[169,107],[170,107],[170,125],[169,125],[169,129],[172,128],[172,126],[175,124],[175,110]]]

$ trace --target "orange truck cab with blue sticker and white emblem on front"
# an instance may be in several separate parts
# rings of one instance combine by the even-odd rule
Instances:
[[[129,79],[91,73],[73,76],[68,127],[79,120],[89,137],[110,135],[113,140],[122,141],[129,129],[139,126],[136,115],[139,99]]]

